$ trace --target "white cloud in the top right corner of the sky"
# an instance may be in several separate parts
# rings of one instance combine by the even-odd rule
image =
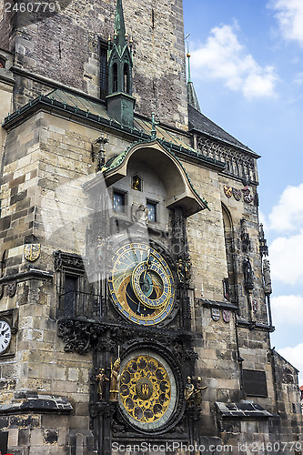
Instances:
[[[276,17],[287,40],[298,41],[303,45],[303,2],[302,0],[271,0],[268,7],[277,11]]]

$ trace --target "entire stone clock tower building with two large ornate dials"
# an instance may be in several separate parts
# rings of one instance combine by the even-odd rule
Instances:
[[[302,455],[258,155],[186,83],[182,1],[47,7],[0,8],[0,451]]]

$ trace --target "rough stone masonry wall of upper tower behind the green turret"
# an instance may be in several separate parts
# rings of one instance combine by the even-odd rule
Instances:
[[[99,96],[99,38],[113,35],[115,9],[115,0],[73,0],[58,15],[19,25],[10,44],[15,66]],[[166,123],[187,128],[182,0],[128,0],[124,10],[134,39],[136,112],[155,111]],[[36,96],[35,85],[27,78],[18,84],[15,107]]]

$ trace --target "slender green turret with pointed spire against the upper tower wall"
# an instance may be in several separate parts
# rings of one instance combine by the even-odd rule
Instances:
[[[122,125],[133,127],[135,98],[132,96],[132,39],[128,43],[122,0],[116,0],[114,39],[112,41],[108,37],[107,67],[107,112]]]

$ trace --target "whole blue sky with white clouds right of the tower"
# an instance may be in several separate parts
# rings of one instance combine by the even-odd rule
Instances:
[[[273,282],[272,346],[303,384],[303,2],[184,0],[203,114],[258,160]]]

